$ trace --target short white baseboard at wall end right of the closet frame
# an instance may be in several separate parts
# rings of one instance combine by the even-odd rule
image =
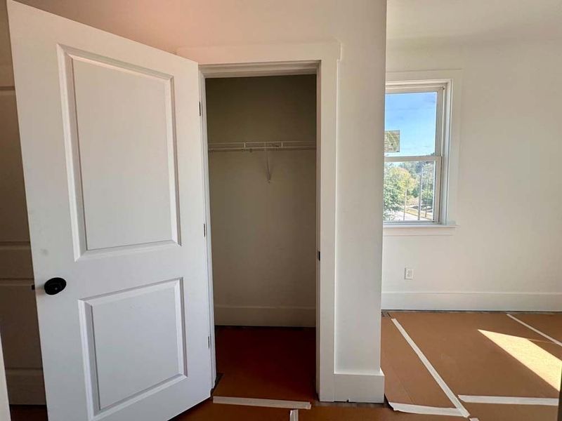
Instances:
[[[384,373],[334,373],[334,389],[338,402],[384,403]]]

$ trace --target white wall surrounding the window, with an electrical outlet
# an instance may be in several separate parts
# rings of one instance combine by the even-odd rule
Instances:
[[[561,51],[562,41],[388,49],[388,71],[462,69],[462,104],[459,228],[384,236],[384,308],[562,310]]]

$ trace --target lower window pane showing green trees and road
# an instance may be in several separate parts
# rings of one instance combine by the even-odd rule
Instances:
[[[384,163],[385,221],[434,221],[435,168],[435,161]]]

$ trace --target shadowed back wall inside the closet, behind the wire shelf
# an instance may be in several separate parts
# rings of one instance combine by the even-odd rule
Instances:
[[[214,142],[316,140],[316,77],[207,79]],[[314,326],[316,152],[211,152],[215,323]]]

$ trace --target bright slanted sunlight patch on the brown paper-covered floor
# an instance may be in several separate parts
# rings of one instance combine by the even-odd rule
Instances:
[[[478,329],[486,338],[502,348],[514,359],[523,364],[533,373],[540,376],[542,380],[560,391],[560,376],[562,373],[562,361],[556,356],[535,345],[527,338],[505,335],[504,333],[490,332]]]

